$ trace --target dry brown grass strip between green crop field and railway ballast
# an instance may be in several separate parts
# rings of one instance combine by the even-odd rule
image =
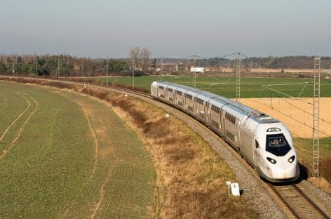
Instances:
[[[182,121],[166,118],[162,110],[124,95],[83,86],[37,84],[74,89],[110,102],[135,128],[158,174],[151,218],[257,218],[250,204],[228,198],[225,181],[235,180],[233,171]]]

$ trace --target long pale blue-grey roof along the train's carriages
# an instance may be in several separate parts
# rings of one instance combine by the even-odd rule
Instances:
[[[272,117],[269,117],[269,115],[264,114],[263,112],[259,112],[258,110],[255,110],[251,107],[248,107],[246,105],[243,105],[240,102],[236,102],[234,100],[230,100],[229,98],[225,98],[223,96],[217,95],[215,93],[210,93],[208,91],[202,91],[200,89],[192,88],[189,86],[184,86],[181,84],[174,84],[170,83],[168,81],[154,81],[156,83],[161,83],[164,85],[169,86],[175,86],[177,88],[182,88],[187,91],[194,92],[198,95],[203,95],[205,97],[210,97],[212,101],[219,102],[220,104],[224,105],[224,107],[229,107],[231,110],[234,110],[238,112],[238,114],[247,115],[251,119],[254,119],[259,124],[266,124],[266,123],[276,123],[279,122],[277,119],[273,119]]]

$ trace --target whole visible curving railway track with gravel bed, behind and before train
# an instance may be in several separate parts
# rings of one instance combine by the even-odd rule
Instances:
[[[45,79],[43,79],[45,80]],[[78,81],[62,81],[62,80],[53,80],[58,82],[64,82],[67,84],[78,84],[78,85],[84,85],[83,83],[80,83]],[[94,88],[103,88],[107,91],[116,91],[118,93],[122,93],[124,95],[133,95],[135,97],[143,97],[148,99],[153,99],[151,95],[148,93],[143,93],[141,91],[134,91],[128,88],[121,88],[117,86],[105,86],[100,84],[85,84],[86,86],[94,87]],[[151,100],[154,101],[154,100]],[[156,100],[155,100],[156,101]],[[169,107],[169,105],[167,105]],[[175,109],[175,108],[174,108]],[[182,111],[179,111],[181,114],[185,114]],[[189,117],[187,115],[187,117]],[[196,121],[197,124],[201,124],[200,122]],[[201,124],[203,126],[203,124]],[[210,129],[203,126],[205,130],[208,130],[212,135],[216,135]],[[218,136],[218,135],[217,135]],[[223,142],[222,139],[219,139]],[[229,146],[230,147],[230,146]],[[238,158],[240,157],[238,154],[234,155]],[[239,158],[238,158],[239,159]],[[243,160],[242,163],[245,163]],[[249,166],[248,163],[245,163],[245,166]],[[250,168],[250,167],[248,167]],[[259,176],[257,174],[254,174],[255,171],[250,168],[249,171],[255,175],[255,178],[259,180]],[[265,188],[269,188],[269,194],[271,194],[271,197],[273,199],[278,199],[276,202],[278,202],[278,205],[283,208],[283,212],[288,218],[331,218],[331,209],[326,209],[323,205],[323,203],[320,203],[318,201],[318,198],[314,198],[314,194],[311,191],[305,191],[302,188],[299,188],[297,185],[271,185],[269,183],[263,183],[265,184]],[[309,195],[307,195],[309,194]],[[282,204],[279,204],[282,203]]]

